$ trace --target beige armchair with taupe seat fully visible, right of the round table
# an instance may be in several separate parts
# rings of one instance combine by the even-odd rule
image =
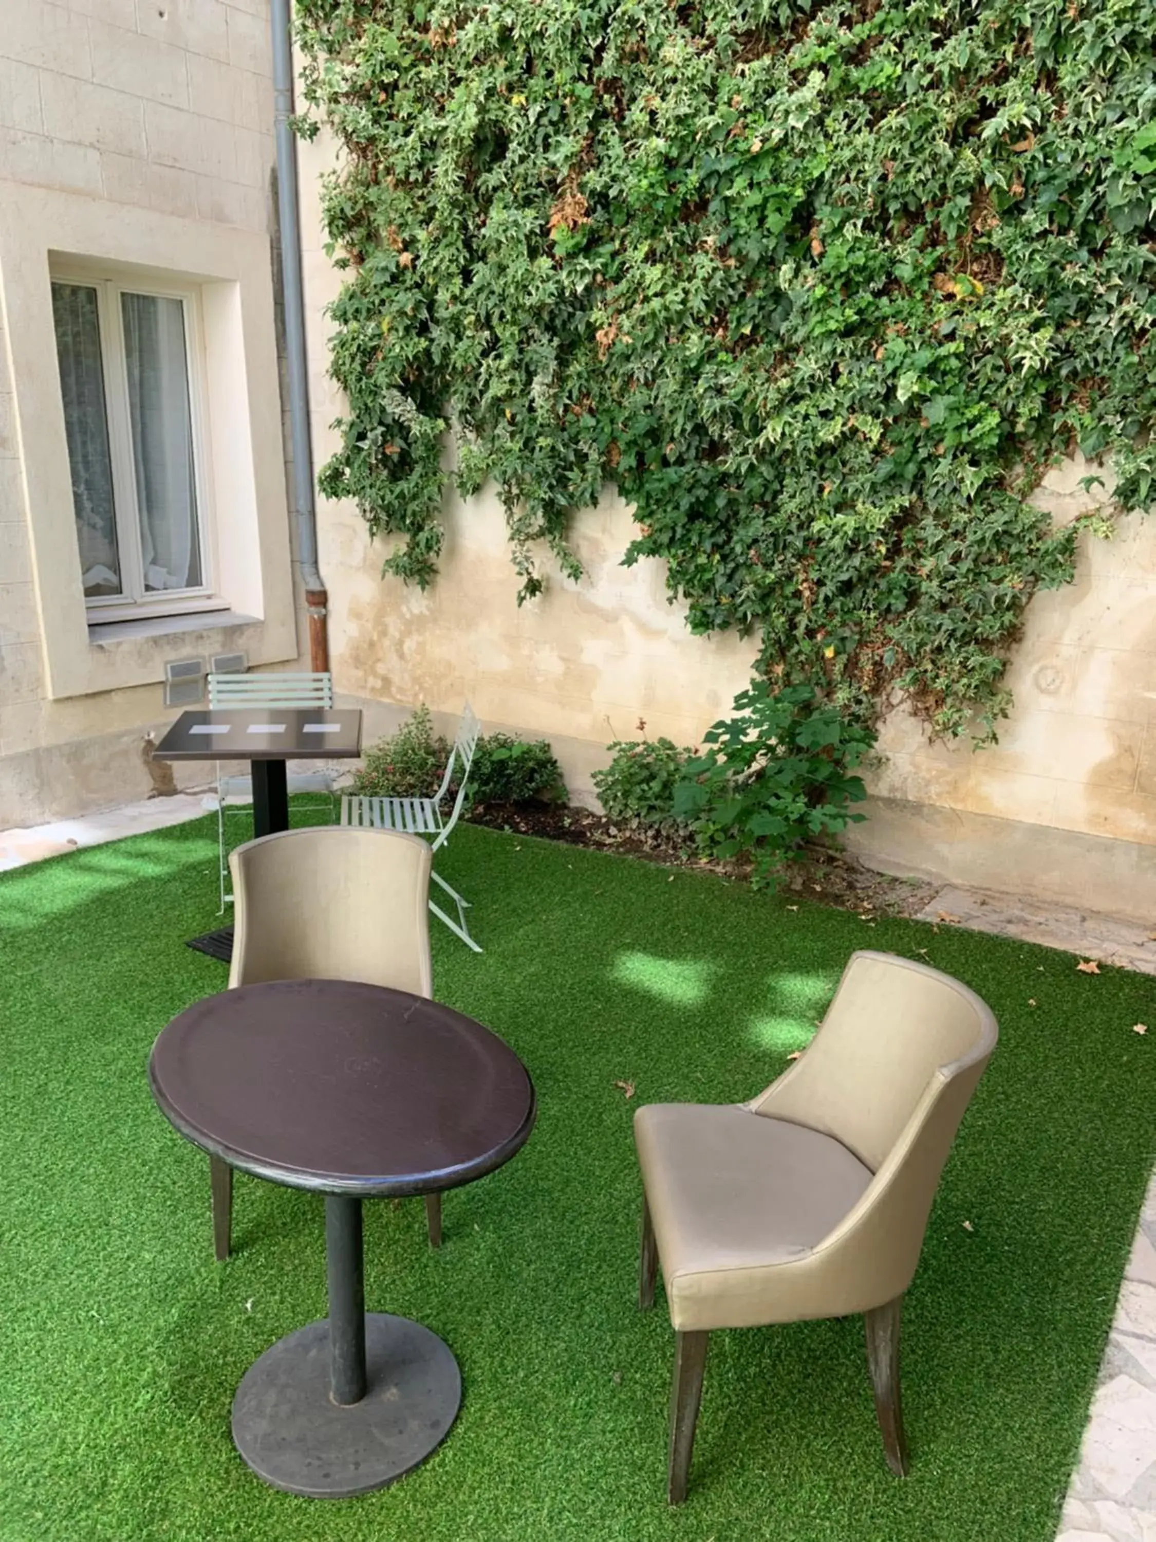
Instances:
[[[661,1264],[675,1329],[670,1503],[686,1497],[712,1328],[863,1312],[886,1460],[906,1474],[903,1292],[994,1047],[996,1019],[966,985],[855,953],[811,1047],[752,1103],[638,1110],[640,1306]]]

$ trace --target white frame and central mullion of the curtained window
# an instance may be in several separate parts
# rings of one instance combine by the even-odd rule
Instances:
[[[217,541],[213,509],[210,466],[210,427],[207,404],[205,325],[200,287],[179,281],[160,281],[156,271],[139,276],[128,267],[116,268],[88,262],[49,265],[52,284],[72,284],[96,290],[97,330],[100,335],[100,370],[105,386],[105,418],[108,430],[109,467],[113,478],[113,509],[120,558],[120,594],[85,595],[85,612],[91,626],[105,621],[133,621],[148,617],[191,615],[225,611],[228,601],[216,592]],[[145,589],[145,564],[140,543],[140,504],[128,392],[128,350],[125,348],[125,318],[122,295],[145,295],[176,299],[185,322],[185,365],[188,370],[190,438],[193,446],[193,487],[197,503],[197,546],[202,581],[188,589]],[[74,513],[76,521],[76,513]]]

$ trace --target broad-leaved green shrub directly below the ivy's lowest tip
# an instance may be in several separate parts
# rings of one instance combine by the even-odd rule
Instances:
[[[749,856],[752,882],[771,884],[805,842],[865,817],[848,806],[866,796],[851,773],[874,734],[809,685],[775,691],[755,680],[734,705],[737,715],[703,736],[707,748],[687,763],[674,806],[704,851]]]

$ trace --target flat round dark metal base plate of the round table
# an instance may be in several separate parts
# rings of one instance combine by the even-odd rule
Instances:
[[[461,1405],[449,1346],[408,1317],[367,1312],[365,1371],[365,1397],[334,1403],[328,1320],[267,1349],[233,1400],[233,1440],[257,1477],[290,1494],[347,1499],[424,1462]]]

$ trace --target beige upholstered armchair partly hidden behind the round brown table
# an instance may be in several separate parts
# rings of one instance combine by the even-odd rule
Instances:
[[[230,856],[236,928],[230,990],[267,979],[358,979],[433,992],[430,847],[419,836],[339,825],[282,830]],[[213,1246],[228,1258],[233,1169],[210,1156]],[[441,1195],[425,1195],[430,1246]]]

